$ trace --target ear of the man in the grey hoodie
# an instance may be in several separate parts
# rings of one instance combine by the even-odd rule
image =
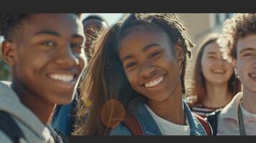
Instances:
[[[16,47],[11,41],[3,41],[1,45],[1,55],[4,61],[10,66],[16,63]]]

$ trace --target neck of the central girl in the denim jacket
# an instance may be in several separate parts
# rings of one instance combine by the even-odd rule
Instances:
[[[166,119],[174,124],[186,124],[186,114],[184,112],[184,104],[182,100],[182,92],[172,94],[168,99],[161,102],[148,101],[154,113],[159,117]]]

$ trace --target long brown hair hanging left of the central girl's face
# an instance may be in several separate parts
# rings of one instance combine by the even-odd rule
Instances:
[[[95,41],[95,52],[82,82],[79,124],[74,135],[106,135],[110,124],[115,124],[111,119],[118,109],[115,104],[104,106],[105,103],[110,99],[118,99],[128,110],[126,101],[136,97],[133,96],[136,92],[125,79],[125,72],[117,53],[115,36],[119,28],[120,24],[114,24],[103,31]],[[105,114],[108,115],[108,124],[103,124],[100,117],[103,107]]]

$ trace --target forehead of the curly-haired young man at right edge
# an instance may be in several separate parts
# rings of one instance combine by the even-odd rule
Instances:
[[[240,53],[242,49],[252,48],[256,50],[256,33],[247,35],[237,41],[237,53]]]

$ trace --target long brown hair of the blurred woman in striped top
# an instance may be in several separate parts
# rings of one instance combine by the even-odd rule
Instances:
[[[189,91],[189,96],[192,96],[193,100],[190,101],[191,106],[195,104],[202,104],[204,99],[207,97],[207,89],[206,89],[206,79],[202,73],[202,56],[204,53],[204,48],[211,43],[216,42],[219,39],[219,34],[208,34],[203,40],[202,43],[199,44],[198,51],[196,53],[196,63],[193,73],[193,85],[191,86],[191,91]],[[228,81],[228,92],[234,97],[237,92],[241,92],[241,82],[235,76],[234,72]]]

